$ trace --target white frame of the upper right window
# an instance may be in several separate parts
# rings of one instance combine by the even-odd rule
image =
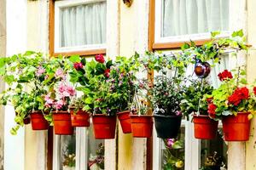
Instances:
[[[162,43],[162,42],[189,42],[190,40],[206,40],[211,38],[211,33],[197,33],[197,34],[188,34],[181,36],[172,36],[172,37],[161,37],[162,32],[162,0],[154,0],[155,1],[155,20],[154,20],[154,43]],[[230,10],[232,9],[232,0],[230,0]],[[232,14],[232,13],[230,13]],[[230,15],[230,18],[233,16]],[[221,31],[221,34],[218,37],[229,37],[230,31]]]

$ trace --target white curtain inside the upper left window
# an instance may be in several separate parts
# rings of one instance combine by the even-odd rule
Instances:
[[[61,8],[60,46],[73,47],[106,42],[107,3]]]

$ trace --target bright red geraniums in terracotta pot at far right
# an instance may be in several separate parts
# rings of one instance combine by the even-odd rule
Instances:
[[[251,113],[255,111],[255,94],[252,89],[247,88],[245,75],[240,67],[234,76],[227,70],[220,72],[218,78],[222,83],[210,96],[212,102],[208,104],[208,113],[212,118],[222,120],[226,141],[249,139]]]

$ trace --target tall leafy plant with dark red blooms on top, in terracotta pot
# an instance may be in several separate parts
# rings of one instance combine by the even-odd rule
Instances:
[[[85,79],[77,90],[84,93],[84,111],[92,113],[96,139],[114,139],[119,94],[108,83],[112,60],[97,54],[85,65]],[[75,76],[74,76],[75,77]],[[78,79],[79,80],[79,79]]]

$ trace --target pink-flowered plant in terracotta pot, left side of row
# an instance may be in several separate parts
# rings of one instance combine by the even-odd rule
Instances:
[[[71,135],[73,127],[68,108],[76,91],[67,83],[66,62],[63,62],[61,57],[51,58],[46,67],[46,74],[44,84],[48,88],[48,94],[44,95],[45,110],[52,113],[55,134]]]

